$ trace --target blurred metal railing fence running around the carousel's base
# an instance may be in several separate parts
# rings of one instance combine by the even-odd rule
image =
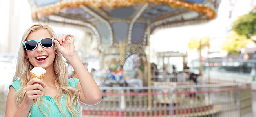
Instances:
[[[83,117],[253,117],[247,83],[100,89],[101,103],[82,105]],[[7,93],[0,90],[0,116]]]

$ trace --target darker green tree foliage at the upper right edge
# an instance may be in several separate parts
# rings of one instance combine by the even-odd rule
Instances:
[[[247,39],[250,39],[251,36],[256,35],[256,7],[243,16],[240,16],[238,20],[234,22],[232,26],[238,35],[244,35]],[[256,43],[256,41],[254,41]]]

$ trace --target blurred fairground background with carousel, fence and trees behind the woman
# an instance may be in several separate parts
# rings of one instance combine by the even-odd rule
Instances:
[[[22,35],[42,23],[75,36],[102,90],[102,102],[84,105],[83,116],[256,116],[255,7],[256,0],[1,0],[1,114]]]

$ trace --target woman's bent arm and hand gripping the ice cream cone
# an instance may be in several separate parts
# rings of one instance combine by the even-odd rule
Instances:
[[[16,106],[15,103],[16,90],[13,88],[13,86],[10,87],[6,99],[5,117],[27,117],[31,106],[34,104],[33,100],[41,96],[42,90],[46,86],[45,84],[42,84],[42,86],[39,84],[34,84],[35,82],[43,83],[42,80],[37,78],[33,78],[27,83],[26,94],[19,108]]]

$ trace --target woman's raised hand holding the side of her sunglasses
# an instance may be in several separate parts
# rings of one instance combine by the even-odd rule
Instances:
[[[69,37],[71,38],[69,39]],[[72,58],[76,55],[73,35],[60,35],[59,38],[53,38],[55,39],[53,42],[56,44],[57,49],[60,51],[64,58],[68,60],[69,58]]]

